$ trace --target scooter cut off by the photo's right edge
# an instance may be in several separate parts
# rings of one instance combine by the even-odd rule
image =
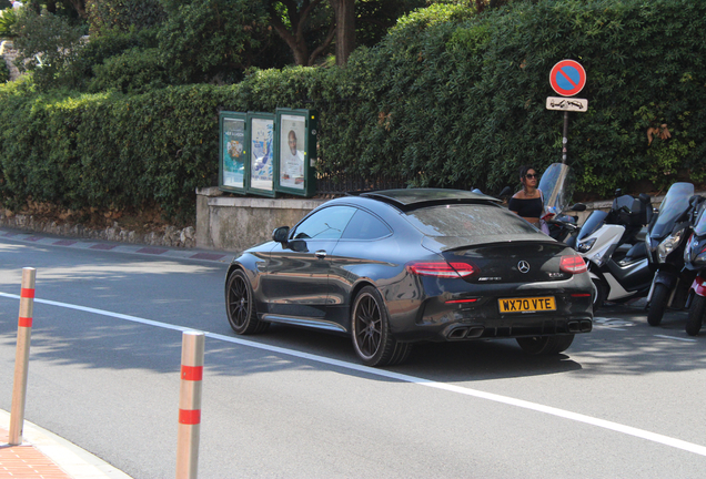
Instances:
[[[686,300],[689,315],[684,329],[689,336],[698,334],[706,316],[706,201],[700,202],[695,218],[684,248],[684,267],[697,272]]]

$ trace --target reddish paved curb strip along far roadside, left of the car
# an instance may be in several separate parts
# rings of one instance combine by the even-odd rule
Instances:
[[[105,241],[87,241],[74,238],[52,237],[46,234],[21,233],[0,228],[0,238],[33,243],[42,246],[71,247],[78,249],[99,249],[113,253],[128,253],[137,255],[151,255],[175,259],[194,259],[210,263],[230,263],[236,256],[235,253],[198,249],[172,249],[160,246],[147,246],[139,244],[111,243]]]

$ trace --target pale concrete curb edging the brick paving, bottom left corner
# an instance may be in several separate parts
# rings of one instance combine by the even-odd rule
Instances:
[[[10,412],[0,409],[0,428],[9,429],[9,427]],[[49,460],[72,479],[132,479],[131,476],[114,468],[85,449],[28,420],[24,420],[23,424],[22,439],[21,446],[13,447],[16,451],[18,449],[20,450],[18,453],[20,459],[22,452],[31,453],[31,449],[34,448],[47,456]],[[31,448],[28,446],[31,446]],[[7,446],[0,444],[0,450],[3,447]],[[4,477],[2,472],[3,471],[0,470],[0,477]]]

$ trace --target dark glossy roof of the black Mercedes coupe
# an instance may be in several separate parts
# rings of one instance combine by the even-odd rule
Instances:
[[[474,193],[466,190],[447,188],[380,190],[360,193],[360,196],[382,201],[384,203],[392,204],[400,210],[415,210],[418,207],[431,206],[435,204],[488,204],[501,202],[501,200],[485,195],[483,193]]]

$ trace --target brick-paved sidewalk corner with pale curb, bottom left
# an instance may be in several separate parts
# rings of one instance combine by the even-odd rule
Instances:
[[[0,409],[0,479],[131,479],[77,445],[24,421],[22,445],[8,445],[10,414]]]

